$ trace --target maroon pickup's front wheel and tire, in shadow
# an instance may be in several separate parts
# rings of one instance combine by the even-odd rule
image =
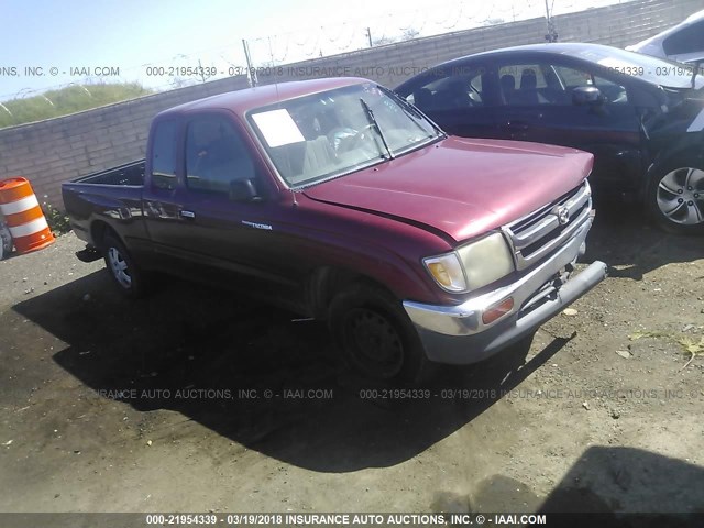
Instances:
[[[362,376],[417,383],[428,360],[400,302],[387,292],[355,284],[330,304],[330,330],[345,363]]]

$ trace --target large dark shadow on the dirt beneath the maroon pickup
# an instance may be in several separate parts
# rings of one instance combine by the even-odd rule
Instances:
[[[178,411],[248,449],[320,472],[409,460],[568,341],[556,339],[528,363],[524,342],[474,367],[443,367],[441,382],[393,399],[384,397],[388,387],[348,373],[324,324],[245,296],[173,280],[131,302],[96,272],[13,309],[67,343],[54,361],[97,397],[140,413]],[[473,393],[454,397],[452,388]]]

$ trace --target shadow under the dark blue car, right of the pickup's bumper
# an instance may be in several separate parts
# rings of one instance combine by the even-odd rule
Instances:
[[[649,222],[640,206],[602,200],[584,260],[605,262],[610,277],[642,280],[645,274],[666,264],[702,257],[701,237],[666,233]]]

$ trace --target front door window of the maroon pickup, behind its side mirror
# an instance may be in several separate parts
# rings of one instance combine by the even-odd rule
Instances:
[[[235,180],[254,179],[252,157],[237,130],[222,117],[196,118],[186,130],[186,186],[229,195]]]

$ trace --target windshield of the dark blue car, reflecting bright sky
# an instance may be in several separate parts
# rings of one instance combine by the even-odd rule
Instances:
[[[650,55],[627,52],[607,46],[588,46],[579,51],[570,51],[585,61],[600,64],[610,70],[638,77],[653,85],[668,88],[691,88],[694,65],[666,61]],[[704,87],[704,72],[700,68],[695,88]]]

